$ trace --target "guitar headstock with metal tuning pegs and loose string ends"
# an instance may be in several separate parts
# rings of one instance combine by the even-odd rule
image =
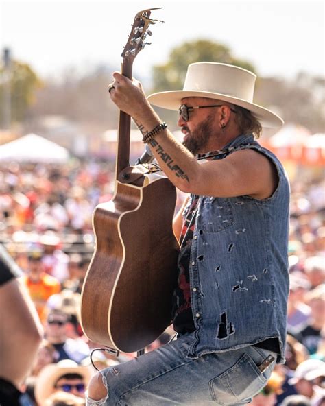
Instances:
[[[152,32],[148,29],[150,24],[163,23],[164,21],[150,19],[150,14],[152,10],[159,10],[162,7],[148,8],[147,10],[142,10],[136,14],[134,17],[134,22],[132,29],[126,43],[123,52],[121,54],[123,60],[127,59],[129,61],[134,60],[138,53],[145,47],[145,45],[150,45],[147,43],[147,36],[151,36]]]

